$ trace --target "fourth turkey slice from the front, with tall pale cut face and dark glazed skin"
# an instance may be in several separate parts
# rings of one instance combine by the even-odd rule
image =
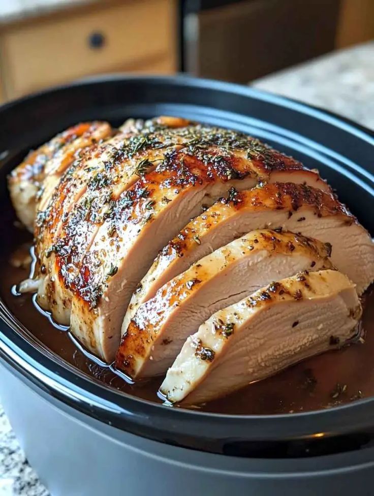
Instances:
[[[245,140],[245,146],[250,146]],[[320,181],[316,173],[303,170],[291,159],[281,159],[277,152],[267,161],[250,160],[247,151],[223,152],[216,145],[204,145],[205,138],[198,143],[202,149],[195,143],[195,148],[188,144],[165,154],[155,171],[119,197],[82,260],[80,277],[70,284],[75,292],[71,330],[108,361],[119,345],[121,323],[135,287],[158,251],[203,206],[211,205],[231,186],[251,188],[261,177]],[[230,147],[231,141],[224,143]],[[239,146],[236,141],[235,146]],[[286,162],[294,169],[285,169]],[[64,257],[60,260],[66,263]]]

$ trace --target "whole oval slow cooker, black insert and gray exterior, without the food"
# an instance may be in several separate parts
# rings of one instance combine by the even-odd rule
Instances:
[[[103,76],[4,105],[2,211],[11,208],[6,175],[28,149],[82,120],[119,124],[154,115],[238,129],[294,155],[319,169],[374,233],[370,131],[244,86],[182,76]],[[171,408],[74,368],[38,341],[3,299],[0,316],[1,400],[53,496],[374,493],[374,398],[285,415]]]

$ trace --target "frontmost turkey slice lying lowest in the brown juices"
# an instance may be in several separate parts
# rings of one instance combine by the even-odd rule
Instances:
[[[357,335],[355,285],[336,271],[294,276],[213,314],[184,343],[160,391],[199,404]]]

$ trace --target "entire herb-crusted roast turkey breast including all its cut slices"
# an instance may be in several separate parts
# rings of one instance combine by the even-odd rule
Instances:
[[[9,189],[35,235],[20,290],[134,379],[172,366],[171,402],[324,351],[328,326],[344,342],[374,281],[370,236],[319,173],[238,131],[171,116],[78,124],[30,153]]]

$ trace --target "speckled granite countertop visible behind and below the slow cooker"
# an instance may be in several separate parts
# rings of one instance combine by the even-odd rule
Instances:
[[[326,108],[374,129],[374,43],[325,55],[252,85]],[[28,465],[0,405],[0,496],[48,494]]]

